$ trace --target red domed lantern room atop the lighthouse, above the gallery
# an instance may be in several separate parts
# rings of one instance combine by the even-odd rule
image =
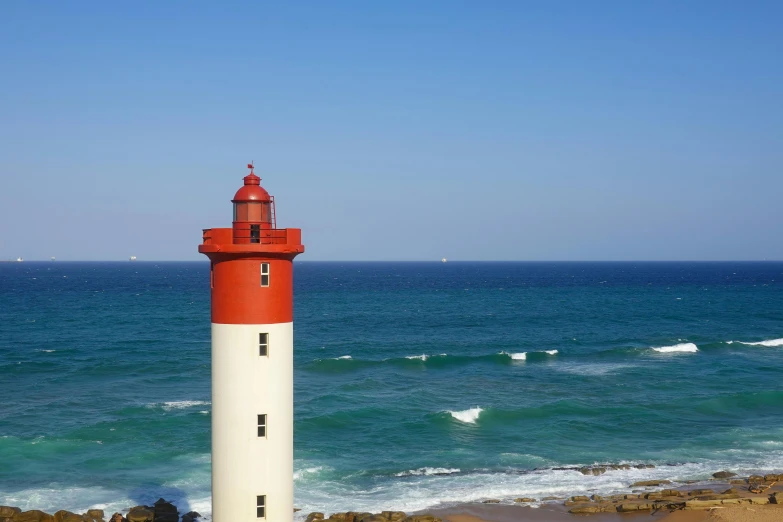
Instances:
[[[261,187],[261,178],[253,172],[245,176],[245,184],[234,195],[233,242],[238,244],[261,243],[262,237],[269,236],[274,230],[275,198]],[[264,232],[266,231],[266,232]]]

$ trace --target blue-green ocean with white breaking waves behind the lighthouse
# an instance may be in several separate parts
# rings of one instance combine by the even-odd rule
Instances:
[[[783,471],[780,262],[297,261],[294,321],[300,517]],[[0,333],[0,504],[209,519],[208,263],[2,263]]]

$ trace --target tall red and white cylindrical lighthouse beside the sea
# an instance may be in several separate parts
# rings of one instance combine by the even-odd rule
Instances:
[[[212,518],[290,522],[294,508],[293,260],[298,228],[248,165],[231,228],[205,229],[212,293]]]

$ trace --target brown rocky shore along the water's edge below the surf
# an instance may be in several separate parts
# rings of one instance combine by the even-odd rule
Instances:
[[[563,468],[578,470],[585,475],[599,475],[608,470],[631,469],[629,465],[604,465],[584,468]],[[633,466],[639,468],[639,466]],[[651,466],[644,466],[651,467]],[[563,514],[597,515],[650,512],[653,514],[676,511],[704,511],[737,506],[770,506],[781,509],[783,520],[783,473],[739,477],[730,471],[713,473],[710,481],[692,481],[674,486],[670,480],[647,480],[628,485],[632,493],[610,496],[579,495],[567,498],[532,498],[519,496],[513,499],[484,499],[480,504],[515,504],[521,506],[560,506]],[[536,510],[533,510],[536,511]],[[408,514],[403,511],[382,511],[380,513],[347,511],[332,513],[313,512],[305,522],[442,522],[451,518],[444,513],[459,513],[459,506],[444,512],[434,510],[433,514]],[[519,513],[523,515],[522,513]],[[566,515],[567,516],[567,515]],[[57,511],[54,514],[39,510],[22,511],[17,507],[0,506],[0,522],[197,522],[201,518],[196,512],[180,514],[177,507],[164,499],[152,506],[135,506],[124,515],[114,513],[105,519],[103,510],[90,509],[78,514]],[[526,517],[518,517],[524,520]],[[482,517],[491,520],[491,516]]]

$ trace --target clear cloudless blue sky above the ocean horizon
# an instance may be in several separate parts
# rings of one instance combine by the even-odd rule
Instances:
[[[783,259],[783,2],[0,2],[0,259]]]

